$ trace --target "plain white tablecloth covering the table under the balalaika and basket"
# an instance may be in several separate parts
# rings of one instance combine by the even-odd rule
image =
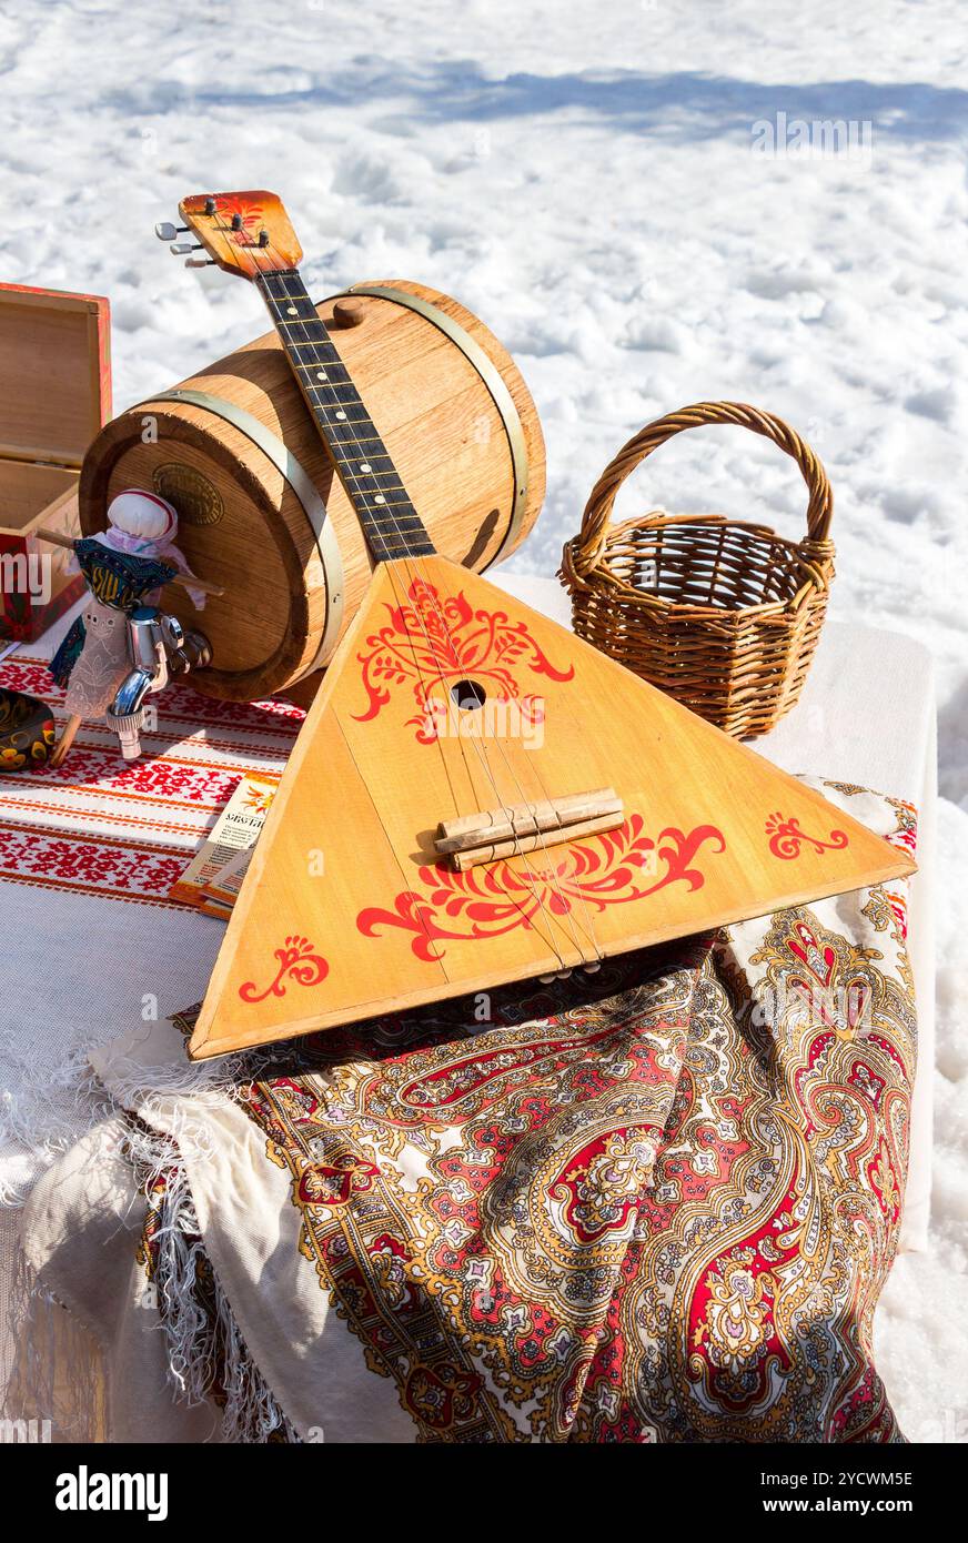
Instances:
[[[494,571],[496,583],[568,625],[568,600],[554,580]],[[62,623],[63,626],[63,623]],[[932,830],[936,790],[931,659],[889,633],[828,623],[804,696],[756,750],[794,773],[858,782],[920,809],[919,864],[909,944],[920,1018],[912,1157],[902,1247],[923,1248],[931,1194],[931,1071],[934,1048]],[[216,751],[213,751],[216,755]],[[56,909],[56,926],[52,915]],[[54,937],[51,934],[56,934]],[[144,995],[162,1012],[205,989],[224,926],[195,912],[124,904],[97,895],[59,893],[0,881],[0,1029],[15,1054],[0,1066],[3,1088],[29,1068],[51,1068],[49,1129],[62,1142],[85,1128],[90,1105],[77,1091],[85,1048],[137,1021]],[[76,1068],[65,1066],[71,1049]],[[57,1074],[54,1069],[57,1068]],[[0,1193],[29,1187],[40,1159],[23,1143],[0,1150]],[[0,1211],[0,1313],[8,1321],[17,1245],[17,1210]],[[5,1335],[0,1387],[11,1341]]]

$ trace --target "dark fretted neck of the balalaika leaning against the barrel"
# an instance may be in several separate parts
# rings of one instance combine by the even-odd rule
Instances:
[[[374,559],[425,557],[434,545],[296,268],[256,279]]]

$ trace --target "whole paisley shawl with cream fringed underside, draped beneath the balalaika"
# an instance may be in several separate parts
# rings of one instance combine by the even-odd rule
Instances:
[[[824,792],[912,850],[909,805]],[[903,883],[860,890],[591,989],[508,988],[485,1023],[451,1003],[208,1065],[205,1092],[178,1089],[170,1026],[100,1051],[147,1196],[127,1299],[156,1293],[230,1437],[903,1440],[871,1325],[908,1160],[905,915]],[[42,1182],[26,1237],[97,1321],[90,1173]],[[148,1396],[134,1362],[116,1381]]]

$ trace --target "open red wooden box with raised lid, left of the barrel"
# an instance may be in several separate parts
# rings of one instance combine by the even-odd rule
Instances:
[[[80,535],[80,463],[110,415],[108,301],[0,284],[0,640],[32,642],[83,591],[34,532]]]

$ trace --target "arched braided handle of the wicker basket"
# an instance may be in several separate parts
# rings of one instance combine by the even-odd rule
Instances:
[[[652,455],[665,440],[672,440],[675,434],[682,434],[684,429],[701,429],[710,423],[733,423],[741,429],[752,429],[753,434],[766,435],[767,440],[794,457],[811,495],[807,534],[800,548],[812,562],[834,555],[834,543],[829,540],[834,494],[828,474],[809,444],[800,438],[795,429],[790,429],[789,423],[775,418],[770,412],[761,412],[741,401],[698,401],[692,407],[681,407],[679,412],[670,412],[639,429],[608,463],[591,489],[582,515],[582,528],[570,543],[571,562],[579,574],[588,572],[597,562],[605,545],[608,517],[625,478],[647,455]]]

